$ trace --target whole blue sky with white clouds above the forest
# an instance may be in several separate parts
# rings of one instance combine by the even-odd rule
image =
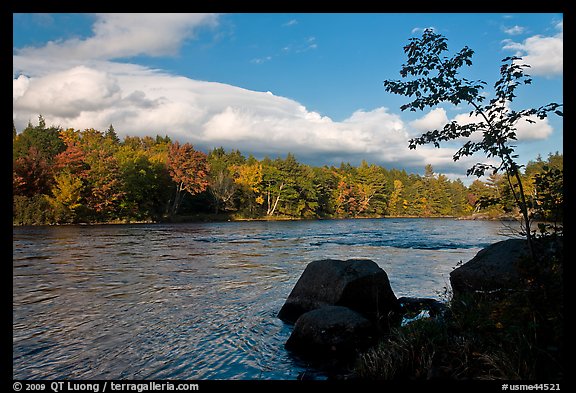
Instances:
[[[408,140],[470,107],[401,111],[384,89],[401,79],[403,47],[425,28],[450,55],[474,50],[466,77],[493,97],[501,60],[522,56],[532,84],[511,108],[563,103],[561,13],[13,14],[13,119],[108,129],[123,138],[168,135],[208,152],[256,158],[293,153],[315,165],[359,165],[461,178],[482,155],[454,162],[461,142],[408,149]],[[563,153],[563,121],[518,125],[522,164]]]

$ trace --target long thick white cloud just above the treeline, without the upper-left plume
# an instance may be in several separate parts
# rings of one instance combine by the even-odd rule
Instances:
[[[119,135],[167,134],[204,149],[294,152],[318,164],[340,161],[423,168],[453,165],[451,153],[408,149],[408,131],[386,108],[359,110],[337,122],[270,92],[196,81],[136,65],[97,62],[13,80],[13,116],[22,129],[41,113],[48,124],[106,129]]]

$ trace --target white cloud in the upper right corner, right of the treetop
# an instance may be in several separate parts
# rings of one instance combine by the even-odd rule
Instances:
[[[530,75],[553,76],[564,72],[564,24],[556,25],[559,32],[553,36],[535,35],[523,42],[504,40],[503,49],[513,51],[523,58],[523,63],[529,64]]]

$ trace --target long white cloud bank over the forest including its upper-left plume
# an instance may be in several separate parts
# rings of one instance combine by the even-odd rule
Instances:
[[[120,61],[173,55],[199,29],[217,25],[218,15],[213,14],[98,14],[91,37],[15,50],[17,130],[42,114],[47,124],[64,128],[105,130],[113,124],[121,137],[168,135],[205,150],[222,146],[261,157],[292,152],[314,165],[364,159],[421,171],[430,163],[436,171],[456,177],[473,163],[454,163],[455,148],[408,149],[411,137],[449,120],[444,109],[409,123],[385,107],[357,110],[334,121],[271,92],[193,80]],[[519,136],[546,137],[551,128],[543,131],[543,126],[541,122],[531,125]]]

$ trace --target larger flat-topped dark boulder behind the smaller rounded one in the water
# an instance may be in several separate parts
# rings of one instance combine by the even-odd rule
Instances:
[[[295,323],[305,312],[324,306],[344,306],[379,325],[387,325],[399,304],[388,275],[374,261],[324,259],[306,266],[278,318]]]

